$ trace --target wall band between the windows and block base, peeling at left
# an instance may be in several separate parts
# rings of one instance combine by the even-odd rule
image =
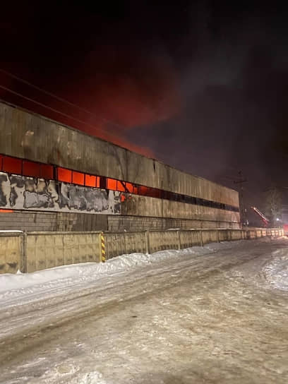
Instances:
[[[121,202],[121,194],[128,195],[116,191],[86,188],[59,183],[54,180],[44,181],[43,179],[33,179],[32,177],[0,172],[0,208],[4,209],[85,212],[102,215],[121,214],[135,217],[171,218],[174,220],[191,220],[193,218],[195,221],[207,221],[205,227],[209,227],[210,223],[214,224],[211,225],[212,227],[217,227],[217,222],[225,222],[226,227],[234,226],[239,228],[239,212],[136,195],[131,195]],[[193,227],[192,223],[189,225]],[[199,223],[196,227],[199,227]],[[36,230],[39,229],[36,228]],[[93,229],[95,228],[87,228],[86,230]],[[135,229],[137,228],[132,227],[132,230]],[[140,227],[139,229],[145,228]]]

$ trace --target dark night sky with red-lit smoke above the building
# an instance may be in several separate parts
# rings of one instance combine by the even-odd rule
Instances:
[[[70,117],[3,88],[2,99],[232,188],[241,171],[248,204],[288,186],[280,3],[62,4],[2,9],[0,68],[85,111],[0,72],[0,85]]]

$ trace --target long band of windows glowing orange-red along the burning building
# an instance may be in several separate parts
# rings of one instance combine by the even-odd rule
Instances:
[[[128,181],[120,181],[105,176],[85,174],[83,172],[72,171],[71,169],[31,162],[28,160],[21,160],[10,156],[0,155],[0,170],[11,174],[40,177],[48,180],[56,179],[58,181],[77,184],[80,186],[109,189],[111,191],[133,193],[135,195],[149,196],[152,198],[178,201],[180,203],[203,205],[210,208],[239,212],[238,207],[217,203],[216,201],[186,196],[181,193],[163,191],[161,189],[151,188],[148,186],[140,186],[138,184],[128,183]]]

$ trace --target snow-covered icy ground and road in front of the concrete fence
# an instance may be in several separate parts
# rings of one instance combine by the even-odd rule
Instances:
[[[0,383],[288,383],[288,239],[0,275]]]

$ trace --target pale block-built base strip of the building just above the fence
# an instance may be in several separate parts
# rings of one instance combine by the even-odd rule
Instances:
[[[21,231],[110,231],[135,232],[146,229],[239,228],[238,223],[188,220],[166,217],[121,215],[88,215],[69,212],[37,212],[34,210],[0,210],[0,230]]]

